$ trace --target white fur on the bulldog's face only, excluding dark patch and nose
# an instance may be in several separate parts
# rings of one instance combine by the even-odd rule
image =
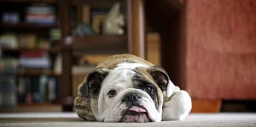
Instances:
[[[157,111],[154,101],[145,91],[133,88],[132,78],[135,72],[132,69],[141,66],[148,67],[143,64],[135,63],[118,64],[103,80],[98,98],[99,114],[95,116],[98,121],[118,122],[122,118],[121,112],[128,108],[124,104],[121,104],[122,97],[125,96],[127,92],[131,91],[142,95],[141,105],[145,106],[149,118],[152,121],[159,122],[162,120],[162,109]],[[117,95],[113,98],[109,98],[108,92],[110,90],[116,90]]]

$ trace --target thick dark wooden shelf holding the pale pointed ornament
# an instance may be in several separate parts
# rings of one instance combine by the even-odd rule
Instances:
[[[87,35],[66,38],[64,48],[92,54],[127,53],[126,35]]]

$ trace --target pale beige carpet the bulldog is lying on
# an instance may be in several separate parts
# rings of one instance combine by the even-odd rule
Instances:
[[[256,113],[189,114],[183,121],[159,123],[86,122],[76,113],[0,113],[0,126],[256,126]]]

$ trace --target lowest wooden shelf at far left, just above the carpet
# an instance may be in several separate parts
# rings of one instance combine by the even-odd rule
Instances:
[[[13,108],[0,108],[0,112],[61,112],[60,104],[18,104]]]

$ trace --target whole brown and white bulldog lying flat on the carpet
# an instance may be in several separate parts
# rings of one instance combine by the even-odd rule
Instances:
[[[166,71],[140,57],[113,55],[78,85],[74,107],[86,121],[159,122],[183,120],[191,98]]]

